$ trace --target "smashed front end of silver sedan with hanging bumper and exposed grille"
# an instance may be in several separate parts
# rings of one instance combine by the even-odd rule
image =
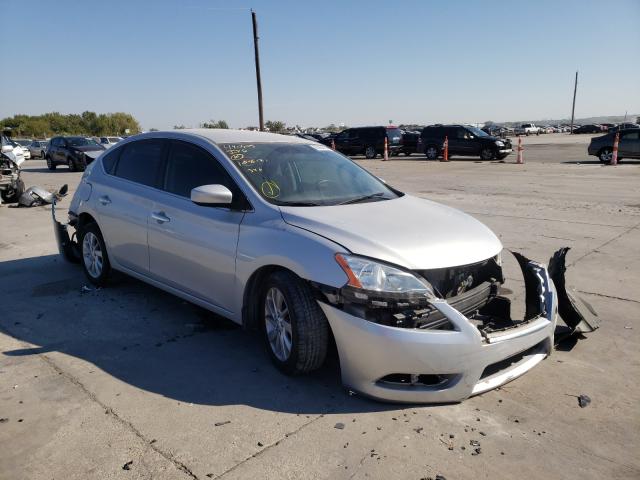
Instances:
[[[502,287],[500,256],[412,272],[429,285],[427,295],[317,286],[343,383],[388,401],[455,402],[522,375],[551,353],[558,312],[571,332],[597,328],[566,293],[565,255],[556,253],[547,269],[514,253],[525,287],[524,298],[514,297],[524,301],[522,318],[513,318]]]

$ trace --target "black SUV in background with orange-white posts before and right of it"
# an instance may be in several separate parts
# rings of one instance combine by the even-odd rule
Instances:
[[[430,160],[443,155],[444,139],[449,142],[449,156],[480,157],[482,160],[502,160],[513,150],[511,141],[492,137],[479,128],[468,125],[430,125],[422,129],[420,138],[424,154]]]

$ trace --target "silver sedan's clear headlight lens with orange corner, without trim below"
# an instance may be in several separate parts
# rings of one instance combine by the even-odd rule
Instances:
[[[347,274],[347,285],[363,292],[356,296],[367,299],[370,292],[373,295],[390,294],[393,297],[432,297],[433,289],[426,280],[419,279],[413,273],[378,263],[368,258],[354,255],[336,254],[338,265]]]

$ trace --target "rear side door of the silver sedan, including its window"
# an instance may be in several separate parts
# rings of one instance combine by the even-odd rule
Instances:
[[[108,174],[92,184],[98,225],[109,256],[137,273],[149,273],[147,223],[160,184],[167,141],[146,139],[114,149],[103,164]]]

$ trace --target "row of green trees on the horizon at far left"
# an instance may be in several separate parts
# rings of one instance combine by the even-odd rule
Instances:
[[[128,133],[127,133],[128,130]],[[14,115],[0,120],[0,131],[12,137],[45,138],[54,135],[134,135],[140,124],[133,115],[124,112],[81,114],[58,112],[42,115]]]

